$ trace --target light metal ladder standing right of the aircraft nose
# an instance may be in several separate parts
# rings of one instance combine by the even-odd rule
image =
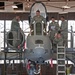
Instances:
[[[57,45],[57,75],[66,75],[65,46]]]

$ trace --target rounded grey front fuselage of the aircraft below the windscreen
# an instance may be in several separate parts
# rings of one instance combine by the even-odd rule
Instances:
[[[43,44],[35,44],[36,40],[42,40]],[[39,58],[47,60],[51,58],[51,42],[48,36],[35,35],[27,37],[28,51],[25,53],[25,57],[33,61],[38,61]]]

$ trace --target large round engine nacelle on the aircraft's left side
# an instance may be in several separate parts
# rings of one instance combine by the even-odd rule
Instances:
[[[21,30],[19,35],[16,31],[9,31],[7,33],[7,46],[12,49],[21,49],[24,46],[25,35]]]

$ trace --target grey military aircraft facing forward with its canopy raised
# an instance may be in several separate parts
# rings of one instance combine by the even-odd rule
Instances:
[[[47,10],[43,3],[35,2],[30,9],[30,22],[32,18],[36,15],[36,11],[39,10],[40,14],[47,18]],[[32,32],[33,31],[33,32]],[[17,49],[13,46],[13,42],[18,42],[16,37],[14,37],[14,32],[10,31],[7,36],[8,38],[8,47]],[[13,39],[13,40],[11,40]],[[43,22],[33,23],[33,30],[30,31],[30,34],[27,36],[25,41],[24,33],[21,30],[21,43],[19,44],[20,48],[23,49],[24,43],[26,43],[27,49],[25,50],[24,58],[32,60],[38,63],[43,63],[45,60],[51,58],[51,48],[52,44],[49,39],[49,36],[46,34],[46,28],[44,28]]]

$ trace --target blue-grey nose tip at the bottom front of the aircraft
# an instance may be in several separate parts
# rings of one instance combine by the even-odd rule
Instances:
[[[45,60],[50,59],[50,50],[44,49],[43,47],[37,47],[27,51],[28,52],[25,52],[25,57],[31,59],[32,61],[36,61],[39,64],[42,64]]]

